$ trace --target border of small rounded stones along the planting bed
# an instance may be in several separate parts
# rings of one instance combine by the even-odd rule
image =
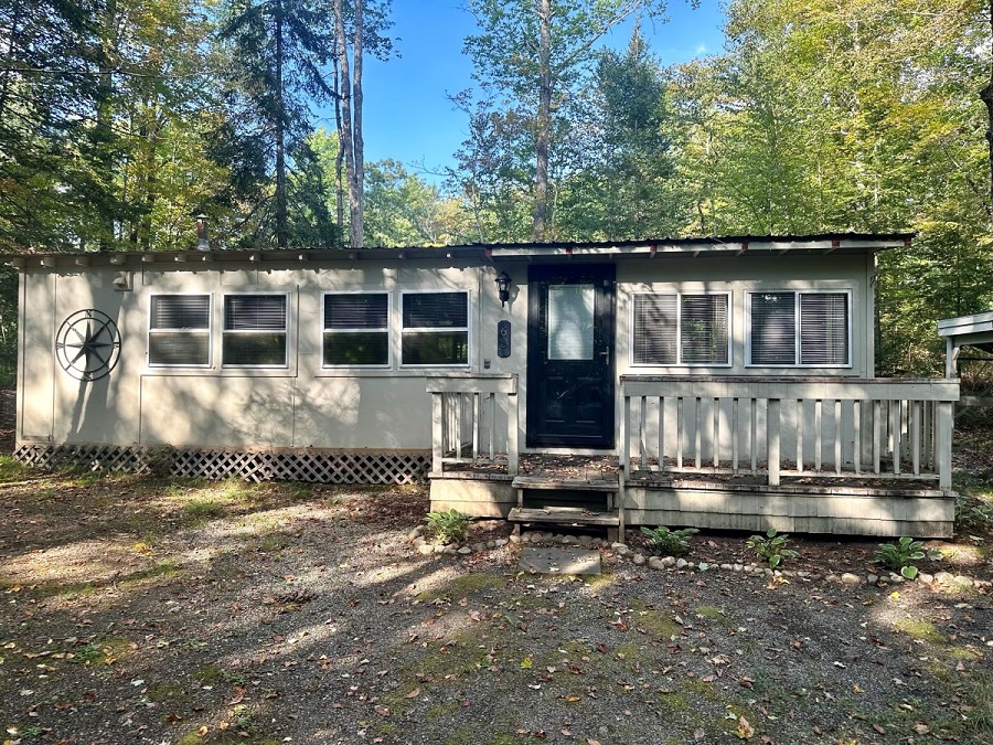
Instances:
[[[628,558],[634,566],[648,566],[650,570],[663,571],[671,570],[677,572],[733,572],[736,574],[749,574],[761,576],[764,578],[775,579],[781,577],[784,579],[803,579],[805,582],[826,582],[841,585],[856,587],[859,585],[886,587],[888,585],[901,585],[908,582],[906,577],[893,572],[888,574],[867,574],[865,576],[853,574],[852,572],[843,572],[841,574],[808,572],[804,570],[771,570],[760,566],[756,563],[734,563],[734,564],[712,564],[709,562],[691,562],[685,558],[676,558],[675,556],[645,556],[640,551],[632,550],[627,543],[609,542],[601,539],[595,539],[590,535],[563,535],[560,533],[551,533],[544,531],[532,531],[521,535],[511,535],[510,539],[499,539],[488,541],[485,543],[470,543],[467,545],[436,545],[428,543],[424,538],[425,526],[418,525],[407,533],[407,541],[414,545],[417,553],[423,555],[444,554],[448,556],[468,556],[470,554],[491,551],[494,549],[503,549],[509,544],[556,544],[564,546],[576,546],[579,549],[606,549],[613,553],[618,558]],[[976,579],[962,574],[951,574],[950,572],[937,572],[933,575],[921,572],[917,575],[917,582],[936,587],[948,587],[951,589],[978,589],[980,592],[990,592],[993,588],[993,582],[989,579]]]

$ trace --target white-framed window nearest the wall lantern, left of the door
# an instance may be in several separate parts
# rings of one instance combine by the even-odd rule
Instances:
[[[469,364],[469,292],[404,292],[401,304],[401,364]]]

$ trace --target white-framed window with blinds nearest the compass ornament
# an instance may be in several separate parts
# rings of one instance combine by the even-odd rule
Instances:
[[[150,366],[211,364],[211,296],[152,295],[148,322]]]

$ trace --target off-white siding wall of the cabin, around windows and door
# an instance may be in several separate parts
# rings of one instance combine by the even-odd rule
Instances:
[[[513,278],[511,300],[501,308],[496,274]],[[656,258],[618,263],[616,369],[647,374],[840,374],[872,375],[872,297],[865,256],[751,257],[737,259]],[[114,289],[127,275],[132,290]],[[121,267],[31,268],[21,275],[21,441],[170,443],[189,446],[325,448],[430,447],[430,397],[425,379],[452,370],[399,366],[399,294],[404,290],[463,290],[470,294],[469,370],[521,374],[520,411],[526,411],[524,365],[527,343],[527,264],[444,265],[401,260],[290,263],[224,268],[221,262],[145,270]],[[847,289],[853,298],[853,366],[844,370],[745,368],[745,292],[752,289]],[[389,370],[331,370],[321,366],[325,291],[387,290],[393,294]],[[639,291],[730,290],[733,364],[729,368],[631,368],[630,306]],[[225,292],[287,292],[289,364],[284,370],[221,366]],[[209,292],[213,297],[212,366],[168,370],[148,366],[149,298],[156,292]],[[107,377],[81,383],[55,365],[55,333],[72,312],[95,308],[121,332],[118,366]],[[496,322],[512,323],[512,353],[496,355]],[[489,361],[489,366],[487,362]],[[465,370],[465,368],[462,368]],[[617,407],[620,416],[621,406]],[[505,417],[501,412],[500,417]],[[522,417],[523,418],[523,417]],[[498,423],[498,430],[505,418]],[[524,441],[523,423],[521,441]]]

